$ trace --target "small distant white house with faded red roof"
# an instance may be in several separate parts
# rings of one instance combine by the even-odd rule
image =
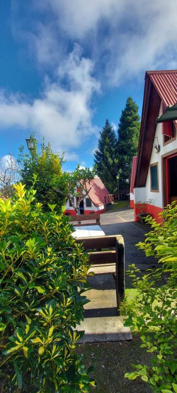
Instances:
[[[84,214],[90,213],[103,213],[106,209],[105,198],[109,195],[109,192],[101,179],[95,176],[91,182],[86,184],[87,189],[91,188],[89,195],[80,203],[80,211]],[[73,209],[70,201],[68,200],[65,205],[65,213],[69,215],[75,215],[76,212]]]

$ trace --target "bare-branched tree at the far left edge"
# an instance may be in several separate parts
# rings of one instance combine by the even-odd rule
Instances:
[[[0,194],[3,198],[9,198],[14,193],[13,183],[18,179],[18,164],[14,157],[9,154],[0,159]]]

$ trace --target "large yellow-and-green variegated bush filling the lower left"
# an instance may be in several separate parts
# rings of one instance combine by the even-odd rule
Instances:
[[[0,200],[0,390],[87,392],[75,354],[83,319],[88,257],[55,206],[42,212],[35,191],[21,183]]]

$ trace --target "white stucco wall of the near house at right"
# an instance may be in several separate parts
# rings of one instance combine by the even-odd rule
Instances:
[[[159,112],[159,116],[162,115],[162,105],[161,109]],[[148,200],[152,200],[151,205],[153,206],[158,206],[163,208],[163,201],[162,201],[162,164],[161,164],[161,157],[170,152],[171,150],[177,148],[177,130],[176,132],[176,139],[168,143],[167,145],[163,146],[163,134],[162,134],[162,123],[157,124],[156,127],[156,135],[154,138],[154,143],[155,144],[160,144],[161,150],[158,153],[157,150],[153,147],[152,148],[152,154],[150,158],[150,164],[154,164],[158,162],[158,167],[159,167],[159,192],[152,192],[150,191],[150,167],[148,170],[148,175],[147,175],[147,180],[146,180],[146,186],[145,187],[140,187],[140,188],[135,188],[134,189],[134,194],[135,194],[135,202],[147,202]],[[157,140],[157,138],[158,140]]]

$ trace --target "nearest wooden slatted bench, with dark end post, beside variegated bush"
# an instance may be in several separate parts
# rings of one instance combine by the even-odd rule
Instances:
[[[113,274],[116,281],[117,308],[125,295],[125,251],[124,240],[121,235],[80,237],[78,243],[82,243],[85,250],[89,250],[89,272],[99,274]],[[111,248],[109,251],[91,251]],[[118,311],[118,314],[119,311]]]

